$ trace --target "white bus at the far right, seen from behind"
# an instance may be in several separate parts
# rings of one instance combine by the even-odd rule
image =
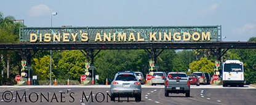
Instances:
[[[226,60],[222,69],[223,87],[234,85],[244,87],[244,66],[239,60]]]

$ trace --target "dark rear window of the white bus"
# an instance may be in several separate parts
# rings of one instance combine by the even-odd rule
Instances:
[[[242,64],[225,64],[224,72],[242,72]]]

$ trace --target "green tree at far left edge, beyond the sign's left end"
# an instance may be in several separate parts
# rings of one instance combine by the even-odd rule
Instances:
[[[17,22],[15,23],[13,20],[15,18],[12,16],[4,17],[4,15],[0,12],[0,43],[17,43],[18,42],[18,36],[19,36],[19,28],[22,25],[22,23]],[[8,49],[8,47],[6,47]],[[20,57],[15,58],[17,56],[17,52],[14,52],[12,50],[10,51],[0,51],[1,56],[1,71],[7,72],[7,84],[10,84],[12,79],[9,79],[10,76],[15,76],[15,71],[18,71],[18,64],[17,62],[20,61]],[[10,70],[14,72],[10,72]],[[13,77],[11,77],[13,78]],[[6,80],[6,79],[4,79]]]

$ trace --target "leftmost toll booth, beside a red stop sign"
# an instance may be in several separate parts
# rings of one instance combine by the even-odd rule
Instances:
[[[31,85],[33,84],[33,68],[31,66],[25,66],[25,69],[21,71],[20,76],[22,79],[18,82],[18,85]]]

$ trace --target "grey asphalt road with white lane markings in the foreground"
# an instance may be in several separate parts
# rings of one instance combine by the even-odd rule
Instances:
[[[191,96],[170,94],[164,96],[163,85],[142,88],[142,101],[134,98],[116,98],[110,101],[109,85],[94,86],[0,86],[0,104],[255,104],[256,88],[222,87],[219,85],[191,86]],[[84,99],[82,99],[84,98]]]

